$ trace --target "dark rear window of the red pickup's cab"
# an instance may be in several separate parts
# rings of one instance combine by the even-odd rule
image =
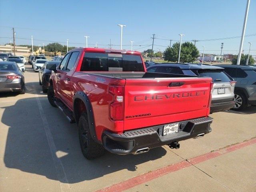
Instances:
[[[81,71],[136,71],[144,72],[138,55],[85,53]]]

